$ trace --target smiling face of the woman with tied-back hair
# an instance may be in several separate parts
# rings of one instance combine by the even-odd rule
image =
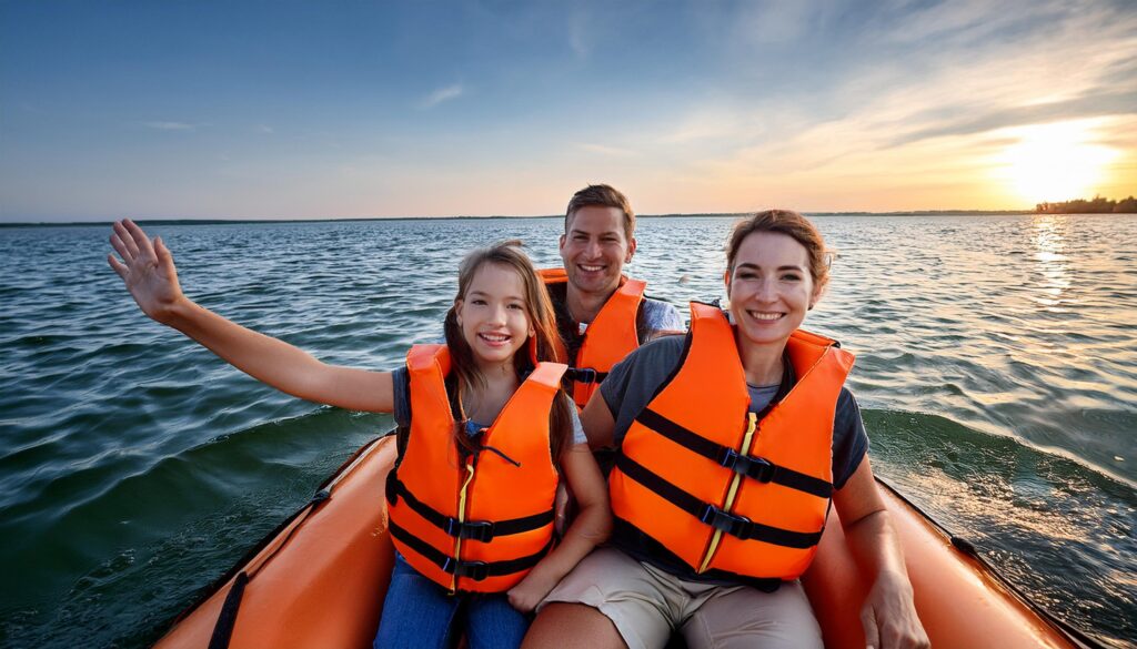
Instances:
[[[805,247],[780,232],[747,235],[724,278],[739,336],[755,344],[785,344],[820,294]]]

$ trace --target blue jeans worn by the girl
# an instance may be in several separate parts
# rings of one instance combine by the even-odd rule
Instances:
[[[383,618],[375,635],[375,649],[445,649],[456,643],[455,617],[463,609],[470,649],[520,647],[529,619],[517,613],[504,592],[448,594],[395,554],[391,585],[383,600]]]

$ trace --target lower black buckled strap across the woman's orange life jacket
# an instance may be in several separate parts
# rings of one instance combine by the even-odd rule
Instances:
[[[821,541],[821,532],[794,532],[755,523],[746,516],[738,516],[704,502],[682,489],[659,477],[650,469],[624,454],[616,457],[616,468],[624,475],[654,491],[657,496],[698,518],[702,523],[721,530],[744,541],[755,540],[786,548],[806,549]]]

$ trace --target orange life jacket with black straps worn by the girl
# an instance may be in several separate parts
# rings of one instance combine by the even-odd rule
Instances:
[[[395,547],[451,592],[506,591],[553,543],[549,408],[565,366],[538,364],[472,455],[454,439],[446,346],[412,347],[407,371],[410,433],[387,489]]]

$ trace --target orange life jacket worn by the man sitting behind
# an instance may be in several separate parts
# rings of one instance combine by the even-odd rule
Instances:
[[[537,272],[546,286],[567,284],[568,274],[564,268],[542,268]],[[620,288],[604,302],[600,313],[584,330],[584,340],[575,359],[568,358],[564,342],[556,341],[557,360],[568,363],[568,377],[573,380],[572,399],[578,407],[583,408],[592,392],[608,375],[612,366],[624,359],[632,350],[639,348],[639,334],[636,331],[636,317],[644,289],[647,283],[640,280],[620,277]]]

